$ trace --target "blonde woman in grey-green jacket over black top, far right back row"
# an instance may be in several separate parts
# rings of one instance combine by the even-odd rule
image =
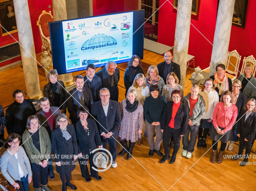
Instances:
[[[252,63],[246,63],[244,71],[238,76],[238,79],[242,82],[240,91],[247,98],[256,96],[256,78],[253,76]]]

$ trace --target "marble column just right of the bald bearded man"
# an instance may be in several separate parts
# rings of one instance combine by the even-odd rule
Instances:
[[[180,65],[181,82],[184,88],[187,70],[188,41],[190,31],[192,0],[179,0],[177,8],[173,62]]]

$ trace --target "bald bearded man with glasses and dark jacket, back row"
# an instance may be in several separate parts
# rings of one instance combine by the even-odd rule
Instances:
[[[157,64],[157,69],[159,72],[159,76],[164,79],[165,84],[166,84],[167,75],[170,72],[174,72],[177,75],[179,82],[181,82],[180,65],[172,61],[171,52],[167,51],[166,53],[164,53],[164,62]]]

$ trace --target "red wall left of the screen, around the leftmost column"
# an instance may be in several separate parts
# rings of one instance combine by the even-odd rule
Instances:
[[[51,8],[48,8],[48,5],[51,5]],[[51,0],[44,0],[44,1],[35,1],[35,0],[28,0],[28,6],[29,6],[29,12],[30,12],[30,20],[31,20],[31,25],[32,25],[32,33],[34,37],[34,44],[35,44],[35,52],[36,54],[41,52],[41,38],[40,38],[40,33],[39,29],[37,26],[37,20],[39,15],[42,13],[42,10],[46,10],[49,12],[51,10],[52,12],[52,1]],[[12,33],[11,34],[16,40],[18,40],[18,33]],[[10,43],[15,42],[15,40],[10,36],[0,36],[0,46],[4,46]],[[21,57],[17,57],[5,62],[0,63],[1,66],[8,65],[10,63],[16,62],[18,60],[21,60]]]

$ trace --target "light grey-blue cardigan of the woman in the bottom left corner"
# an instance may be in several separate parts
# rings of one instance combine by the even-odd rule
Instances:
[[[14,154],[8,152],[8,149],[3,153],[0,159],[1,172],[6,180],[13,184],[16,180],[20,181],[18,163],[23,170],[24,176],[32,176],[31,166],[27,154],[25,153],[22,146],[18,148],[18,160]]]

